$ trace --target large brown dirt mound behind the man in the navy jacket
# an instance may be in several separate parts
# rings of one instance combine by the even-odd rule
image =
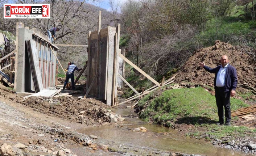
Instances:
[[[228,43],[215,41],[215,45],[205,49],[199,49],[192,55],[178,72],[176,81],[182,81],[212,85],[215,74],[207,72],[199,67],[199,62],[205,62],[206,66],[215,68],[220,65],[222,55],[227,55],[229,63],[237,70],[238,87],[243,83],[248,83],[251,87],[256,87],[255,62],[241,47],[232,46]]]

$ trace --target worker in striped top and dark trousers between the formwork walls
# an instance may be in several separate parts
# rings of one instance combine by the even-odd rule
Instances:
[[[68,69],[67,69],[67,73],[66,73],[66,80],[63,86],[63,89],[61,92],[64,92],[64,89],[66,88],[67,83],[69,82],[69,79],[71,79],[71,83],[72,83],[72,90],[75,90],[75,84],[74,84],[74,72],[75,70],[80,71],[82,70],[82,68],[78,69],[77,66],[75,65],[74,62],[72,62]]]

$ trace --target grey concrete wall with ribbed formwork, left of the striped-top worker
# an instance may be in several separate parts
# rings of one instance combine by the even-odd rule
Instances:
[[[42,81],[44,88],[54,87],[56,75],[56,61],[57,59],[50,50],[49,43],[44,39],[33,35],[33,31],[26,28],[18,29],[18,64],[17,64],[17,83],[16,92],[31,92],[34,90],[32,72],[30,68],[26,40],[36,41],[36,48],[38,51],[38,60],[40,71],[42,73]],[[40,44],[41,42],[41,44]],[[54,54],[57,55],[57,49],[53,48]]]

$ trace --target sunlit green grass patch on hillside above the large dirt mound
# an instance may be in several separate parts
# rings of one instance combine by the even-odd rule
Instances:
[[[256,21],[245,20],[243,17],[218,17],[209,20],[195,36],[195,40],[204,47],[214,45],[215,40],[239,45],[239,38],[249,38],[255,34],[255,28]]]

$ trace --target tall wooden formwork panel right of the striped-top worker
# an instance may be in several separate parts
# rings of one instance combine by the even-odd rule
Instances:
[[[113,69],[114,53],[117,47],[115,41],[116,28],[108,26],[100,32],[89,33],[88,43],[88,75],[87,90],[88,95],[107,100],[107,105],[112,105],[113,94]],[[99,74],[92,84],[95,75]],[[92,85],[92,87],[90,87]]]

